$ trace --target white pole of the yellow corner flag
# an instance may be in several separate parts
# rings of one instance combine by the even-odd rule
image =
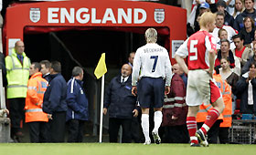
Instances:
[[[100,118],[100,140],[99,142],[102,142],[102,126],[103,126],[103,102],[104,102],[104,78],[105,75],[101,78],[101,118]]]

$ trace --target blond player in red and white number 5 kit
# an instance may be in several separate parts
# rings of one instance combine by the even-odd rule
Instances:
[[[200,19],[200,31],[187,38],[184,44],[176,51],[176,62],[188,75],[187,81],[187,129],[191,147],[201,145],[207,147],[206,134],[219,114],[224,109],[223,99],[219,88],[212,81],[214,60],[216,57],[216,40],[210,35],[215,28],[216,15],[204,13]],[[187,58],[187,65],[183,58]],[[188,71],[189,70],[189,71]],[[199,106],[210,103],[214,107],[208,112],[208,119],[201,129],[197,130],[196,116]],[[198,143],[200,141],[200,144]]]

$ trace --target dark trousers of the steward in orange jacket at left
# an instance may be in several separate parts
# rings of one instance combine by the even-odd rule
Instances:
[[[33,121],[27,123],[30,142],[48,142],[48,122]]]

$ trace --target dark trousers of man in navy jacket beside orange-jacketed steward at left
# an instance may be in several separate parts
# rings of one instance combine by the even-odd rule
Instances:
[[[64,142],[66,111],[53,112],[50,123],[50,142]]]

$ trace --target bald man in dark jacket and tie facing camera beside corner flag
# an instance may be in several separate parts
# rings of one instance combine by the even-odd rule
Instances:
[[[117,142],[120,126],[123,129],[122,142],[132,140],[132,119],[137,117],[136,98],[132,95],[132,67],[124,64],[121,76],[112,78],[104,99],[104,115],[109,112],[110,142]]]

